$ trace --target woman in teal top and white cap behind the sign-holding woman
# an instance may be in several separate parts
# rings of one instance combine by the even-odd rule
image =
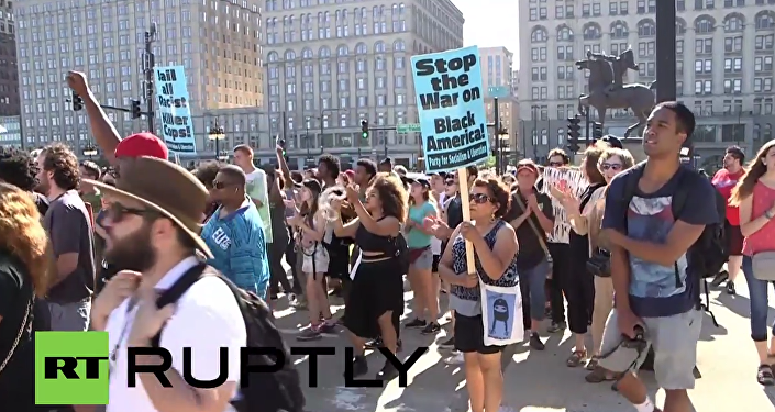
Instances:
[[[439,290],[432,278],[433,250],[431,250],[432,230],[425,224],[425,218],[435,218],[439,212],[435,199],[431,196],[431,182],[425,179],[403,179],[410,185],[409,214],[403,231],[409,247],[409,272],[407,278],[414,292],[412,307],[414,319],[407,327],[422,329],[422,334],[435,335],[439,326]],[[425,314],[428,311],[428,314]]]

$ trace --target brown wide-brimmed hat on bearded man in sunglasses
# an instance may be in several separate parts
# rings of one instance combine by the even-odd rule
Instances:
[[[97,180],[84,180],[100,188],[103,193],[143,203],[147,209],[162,213],[191,237],[199,252],[212,258],[212,252],[199,235],[208,191],[185,168],[156,157],[142,156],[123,159],[115,187]]]

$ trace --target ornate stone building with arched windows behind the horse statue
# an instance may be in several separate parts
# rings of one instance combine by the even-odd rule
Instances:
[[[567,118],[587,92],[574,62],[587,51],[632,47],[640,70],[627,82],[656,80],[656,1],[520,1],[520,105],[536,157],[566,145]],[[728,145],[752,152],[773,138],[773,0],[677,0],[677,99],[697,116],[697,152],[718,163]],[[622,135],[631,112],[610,110],[607,131]],[[720,156],[719,156],[720,155]],[[712,159],[710,158],[712,156]]]

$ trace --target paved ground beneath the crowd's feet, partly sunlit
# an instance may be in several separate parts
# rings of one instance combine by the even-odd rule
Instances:
[[[711,291],[711,308],[721,327],[715,327],[706,315],[702,338],[699,345],[698,367],[702,378],[690,392],[697,411],[775,411],[775,390],[763,390],[755,381],[756,356],[751,344],[748,313],[748,290],[743,279],[738,281],[738,297]],[[406,300],[411,293],[406,294]],[[775,296],[771,294],[771,301]],[[341,303],[341,302],[340,302]],[[277,303],[285,305],[283,299]],[[341,311],[341,307],[337,307]],[[292,309],[278,311],[279,325],[287,332],[288,344],[300,345],[294,338],[294,330],[307,323],[307,312]],[[771,310],[771,318],[775,310]],[[442,341],[443,333],[435,339],[420,335],[419,331],[402,331],[405,357],[418,346],[430,346],[410,371],[410,385],[398,387],[398,379],[384,389],[344,388],[344,347],[346,337],[324,337],[315,343],[303,345],[335,346],[336,357],[321,357],[319,387],[307,393],[307,410],[310,412],[465,412],[463,370],[460,366],[443,361],[446,353],[440,353],[434,341]],[[544,337],[547,336],[544,334]],[[589,385],[584,381],[583,368],[569,369],[565,358],[571,352],[569,333],[552,335],[546,342],[546,350],[530,352],[527,345],[517,349],[512,363],[506,371],[505,403],[513,411],[568,411],[568,412],[632,412],[621,397],[611,391],[610,385]],[[383,365],[378,353],[370,354],[369,374],[373,377]],[[297,359],[306,379],[307,359]],[[654,387],[653,375],[644,372],[644,378]],[[653,391],[652,391],[653,396]],[[658,404],[664,396],[656,394]]]

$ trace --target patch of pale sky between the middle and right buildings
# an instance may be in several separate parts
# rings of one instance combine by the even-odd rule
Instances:
[[[519,1],[452,0],[465,19],[464,44],[479,47],[505,46],[514,54],[514,68],[519,68]]]

